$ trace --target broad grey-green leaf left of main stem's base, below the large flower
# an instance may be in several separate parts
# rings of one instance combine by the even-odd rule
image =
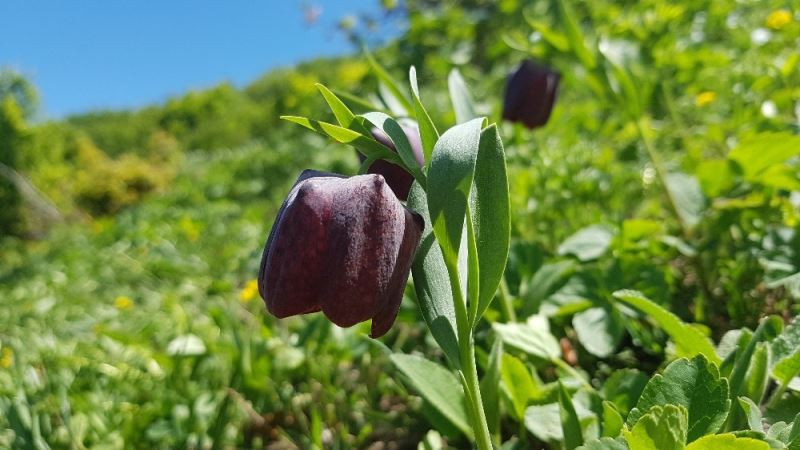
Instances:
[[[472,436],[464,390],[452,372],[419,356],[395,353],[391,359],[422,398],[464,435]]]

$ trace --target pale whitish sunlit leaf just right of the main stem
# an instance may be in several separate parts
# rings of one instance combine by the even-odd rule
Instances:
[[[492,328],[509,347],[522,350],[539,360],[549,361],[559,357],[561,347],[546,324],[547,319],[531,316],[526,323],[495,322]]]

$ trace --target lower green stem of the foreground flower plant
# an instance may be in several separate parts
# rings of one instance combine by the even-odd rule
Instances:
[[[461,281],[458,276],[458,265],[448,264],[447,273],[450,278],[450,288],[453,291],[453,303],[456,313],[456,327],[458,328],[458,356],[461,362],[461,382],[464,385],[464,394],[468,402],[468,410],[472,416],[472,428],[475,434],[475,443],[478,450],[492,450],[492,439],[489,425],[486,422],[486,413],[483,411],[480,382],[478,381],[478,368],[475,364],[475,340],[472,327],[467,314],[467,304],[461,290]]]

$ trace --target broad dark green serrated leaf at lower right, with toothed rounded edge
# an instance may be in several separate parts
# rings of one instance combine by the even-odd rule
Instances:
[[[628,426],[653,406],[667,403],[681,405],[688,411],[688,442],[715,433],[728,416],[731,400],[728,381],[721,378],[717,366],[703,356],[691,361],[678,359],[650,379],[636,407],[628,415]]]

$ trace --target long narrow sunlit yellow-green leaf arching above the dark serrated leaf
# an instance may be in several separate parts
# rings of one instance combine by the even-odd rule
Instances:
[[[641,292],[625,289],[616,291],[613,295],[623,303],[647,314],[664,329],[669,337],[672,338],[672,341],[675,342],[678,356],[703,355],[714,364],[721,362],[714,349],[714,344],[708,337],[704,336],[696,328],[681,322],[678,316],[655,304]]]

